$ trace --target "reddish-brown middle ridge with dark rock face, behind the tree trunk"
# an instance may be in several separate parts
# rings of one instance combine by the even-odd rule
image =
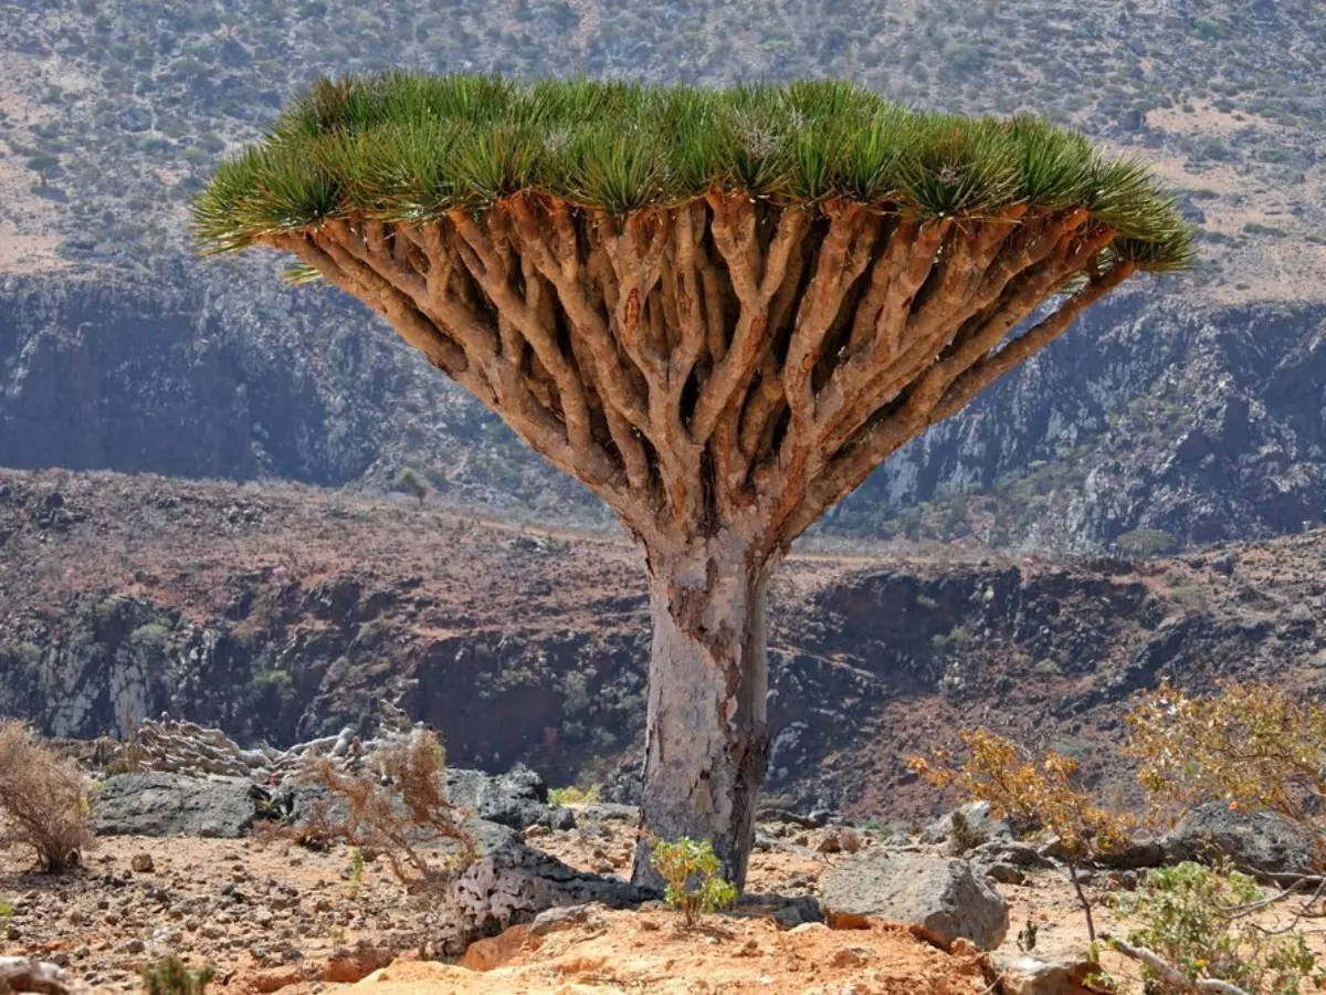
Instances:
[[[793,557],[773,586],[769,792],[928,815],[904,760],[972,723],[1122,784],[1107,747],[1142,687],[1322,689],[1323,561],[1322,532],[1147,563]],[[5,472],[0,564],[0,712],[49,734],[170,711],[289,744],[387,698],[455,763],[634,791],[648,625],[636,553],[610,536],[302,487]]]

